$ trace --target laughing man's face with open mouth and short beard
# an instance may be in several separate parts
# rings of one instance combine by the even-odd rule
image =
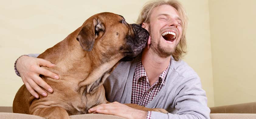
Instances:
[[[177,10],[170,5],[154,8],[145,28],[150,33],[150,48],[163,58],[172,55],[182,36],[182,21]]]

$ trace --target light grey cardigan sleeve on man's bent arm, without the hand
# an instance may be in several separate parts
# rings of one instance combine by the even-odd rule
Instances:
[[[206,92],[197,75],[190,76],[176,90],[173,104],[176,110],[174,114],[152,111],[151,119],[210,119]]]

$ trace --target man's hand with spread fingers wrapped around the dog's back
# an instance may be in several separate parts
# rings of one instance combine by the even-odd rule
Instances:
[[[39,86],[43,87],[50,93],[53,92],[53,89],[45,81],[43,81],[42,78],[39,77],[39,74],[50,78],[59,79],[57,74],[54,74],[47,69],[41,68],[41,66],[51,68],[54,67],[54,64],[44,59],[28,57],[26,55],[21,56],[16,62],[16,68],[19,71],[22,81],[26,85],[28,91],[35,98],[39,98],[35,90],[41,95],[45,97],[47,96],[47,93],[43,91],[43,89]]]

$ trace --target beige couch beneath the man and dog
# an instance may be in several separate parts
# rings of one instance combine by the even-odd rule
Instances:
[[[210,107],[211,119],[256,119],[256,102]],[[105,114],[72,115],[71,119],[124,119]],[[12,113],[12,107],[0,107],[0,119],[45,119],[43,117]]]

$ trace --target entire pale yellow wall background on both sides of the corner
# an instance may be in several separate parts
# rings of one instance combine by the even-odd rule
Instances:
[[[0,106],[12,106],[23,84],[13,64],[42,53],[99,12],[137,20],[147,0],[1,1]],[[208,106],[255,101],[256,8],[254,0],[180,0],[188,17],[184,60],[199,74]],[[171,87],[170,87],[171,88]]]

